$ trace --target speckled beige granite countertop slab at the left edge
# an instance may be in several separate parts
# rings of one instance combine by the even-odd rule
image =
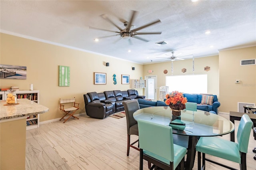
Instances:
[[[17,102],[20,104],[4,106],[4,104],[6,104],[6,101],[0,101],[0,121],[16,117],[38,115],[49,111],[49,108],[28,99],[18,99]]]

